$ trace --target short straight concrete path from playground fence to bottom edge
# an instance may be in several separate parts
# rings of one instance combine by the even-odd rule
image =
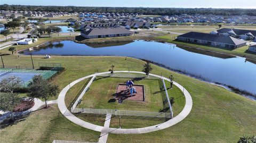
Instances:
[[[111,114],[107,114],[106,120],[104,123],[104,128],[102,129],[102,131],[100,133],[99,143],[107,143],[110,121],[111,121]]]

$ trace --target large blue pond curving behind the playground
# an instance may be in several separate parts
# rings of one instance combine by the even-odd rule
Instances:
[[[85,45],[74,41],[54,42],[29,55],[115,55],[150,60],[166,68],[199,75],[256,94],[256,64],[242,57],[220,58],[186,51],[172,44],[136,40],[118,44]],[[132,66],[132,65],[130,65]],[[221,94],[221,93],[220,93]]]

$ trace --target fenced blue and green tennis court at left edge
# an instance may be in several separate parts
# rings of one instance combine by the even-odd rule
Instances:
[[[49,79],[61,69],[60,63],[38,63],[37,68],[5,65],[0,68],[0,81],[13,76],[20,79],[22,87],[27,87],[35,75],[41,75],[43,79]]]

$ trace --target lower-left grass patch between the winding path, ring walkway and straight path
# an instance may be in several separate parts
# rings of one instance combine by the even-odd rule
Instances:
[[[0,129],[0,142],[52,142],[54,139],[98,141],[99,132],[71,123],[62,116],[57,105],[50,106],[31,113],[18,123]]]

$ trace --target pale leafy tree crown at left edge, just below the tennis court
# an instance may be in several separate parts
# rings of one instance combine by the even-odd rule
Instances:
[[[20,78],[15,76],[9,76],[0,81],[0,90],[4,92],[11,92],[21,87]]]

